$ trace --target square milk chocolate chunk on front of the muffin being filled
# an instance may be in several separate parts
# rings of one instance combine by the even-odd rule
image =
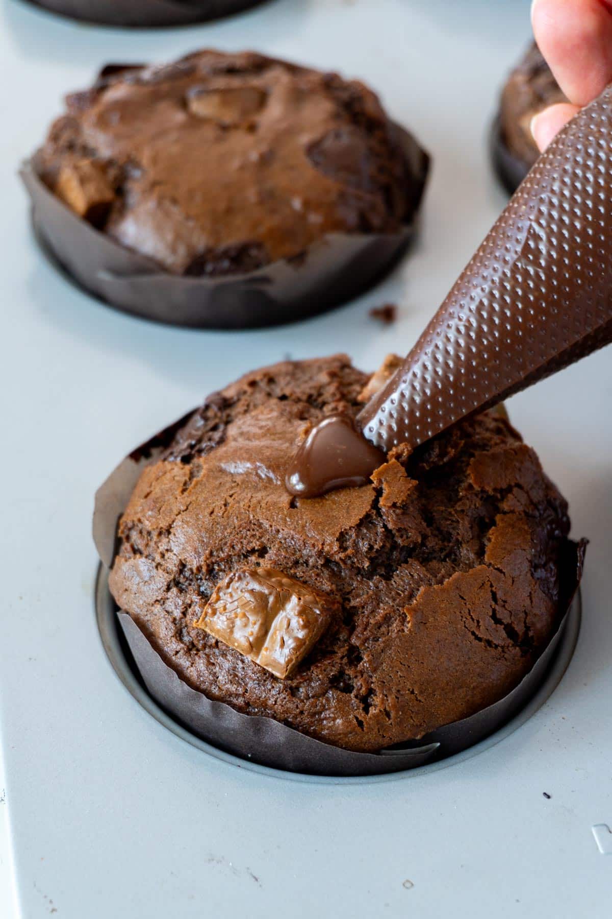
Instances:
[[[339,602],[274,568],[228,574],[194,622],[282,680],[339,612]]]

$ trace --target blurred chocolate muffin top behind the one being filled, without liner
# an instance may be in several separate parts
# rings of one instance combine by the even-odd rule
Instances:
[[[179,275],[241,273],[328,233],[397,233],[427,157],[373,92],[260,54],[108,65],[34,159],[83,220]]]

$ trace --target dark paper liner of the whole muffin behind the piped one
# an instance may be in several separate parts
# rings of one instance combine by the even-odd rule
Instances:
[[[418,202],[428,175],[428,154],[407,131],[398,130]],[[162,271],[147,256],[81,220],[44,185],[31,161],[19,175],[28,189],[39,243],[56,267],[120,310],[195,328],[246,329],[295,322],[350,301],[393,267],[416,223],[401,233],[330,233],[303,255],[248,274],[186,278]]]

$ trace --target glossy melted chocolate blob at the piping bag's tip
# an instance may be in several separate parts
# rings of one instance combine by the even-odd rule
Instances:
[[[356,430],[350,417],[324,418],[297,448],[285,484],[290,494],[312,498],[347,485],[365,485],[384,454]]]

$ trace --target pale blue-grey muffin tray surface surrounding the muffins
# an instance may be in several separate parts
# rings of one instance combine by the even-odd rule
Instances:
[[[100,650],[92,605],[93,494],[129,448],[287,353],[341,349],[374,369],[412,344],[503,206],[485,135],[528,32],[527,0],[276,0],[227,22],[138,33],[0,5],[9,126],[0,809],[19,919],[53,910],[58,919],[609,915],[612,857],[592,832],[612,825],[609,349],[509,404],[570,499],[574,533],[592,539],[583,629],[551,700],[471,760],[364,788],[272,780],[207,758],[128,698]],[[419,243],[393,278],[310,323],[204,334],[108,310],[41,258],[12,176],[61,95],[104,62],[171,60],[204,45],[361,76],[416,131],[434,167]],[[385,301],[401,305],[387,329],[368,317]]]

